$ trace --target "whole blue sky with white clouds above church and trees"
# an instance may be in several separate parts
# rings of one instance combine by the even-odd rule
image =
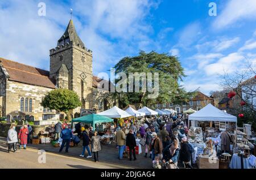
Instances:
[[[46,16],[38,3],[46,3]],[[210,2],[217,16],[209,16]],[[220,74],[256,64],[256,1],[93,0],[0,1],[0,57],[49,69],[70,19],[93,50],[93,74],[108,70],[139,50],[177,55],[188,76],[187,91],[220,90]]]

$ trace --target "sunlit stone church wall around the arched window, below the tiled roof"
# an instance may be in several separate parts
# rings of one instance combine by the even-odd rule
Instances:
[[[7,80],[6,83],[6,112],[5,116],[11,115],[13,117],[20,115],[25,119],[25,115],[34,116],[34,120],[42,120],[43,106],[41,106],[42,98],[51,88],[40,87],[36,85],[29,85],[24,83],[13,82]],[[32,112],[20,112],[20,99],[32,98]],[[29,106],[29,101],[28,101]],[[24,105],[25,110],[25,105]]]

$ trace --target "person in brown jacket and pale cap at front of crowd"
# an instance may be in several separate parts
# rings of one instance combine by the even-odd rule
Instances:
[[[163,144],[161,140],[158,138],[158,135],[156,132],[152,132],[152,140],[151,140],[151,146],[150,151],[152,151],[152,161],[155,160],[155,158],[160,158],[160,155],[163,151]]]

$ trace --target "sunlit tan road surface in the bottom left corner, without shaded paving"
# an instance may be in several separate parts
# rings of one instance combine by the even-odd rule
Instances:
[[[17,168],[17,169],[67,169],[67,168],[101,168],[101,169],[119,169],[128,168],[121,165],[113,165],[104,162],[92,162],[85,158],[77,158],[58,153],[46,152],[42,154],[38,149],[27,148],[18,150],[19,152],[7,153],[6,144],[0,142],[0,169]],[[40,153],[40,154],[39,154]],[[45,157],[45,158],[44,158]],[[45,160],[45,163],[44,163]]]

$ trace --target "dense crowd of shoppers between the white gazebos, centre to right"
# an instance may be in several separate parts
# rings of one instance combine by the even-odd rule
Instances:
[[[119,160],[123,159],[123,151],[126,146],[129,147],[130,160],[132,160],[132,153],[134,160],[137,159],[135,136],[139,136],[144,141],[144,157],[147,158],[149,155],[153,164],[163,162],[167,168],[177,168],[177,161],[180,160],[185,168],[192,168],[191,153],[193,150],[186,138],[187,118],[182,114],[145,118],[139,128],[134,128],[138,127],[134,124],[130,126],[127,137],[125,137],[125,128],[119,127],[116,133]]]

